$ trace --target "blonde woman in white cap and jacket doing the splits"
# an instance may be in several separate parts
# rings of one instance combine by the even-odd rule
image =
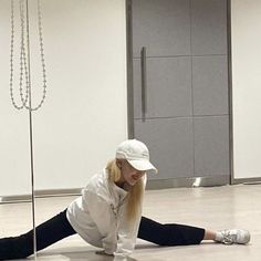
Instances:
[[[161,225],[142,217],[146,171],[157,173],[148,148],[136,139],[119,144],[116,158],[95,175],[63,212],[36,227],[36,249],[79,233],[86,242],[102,248],[97,253],[124,260],[136,238],[159,246],[198,244],[202,240],[248,243],[246,230],[209,231],[184,225]],[[22,259],[33,253],[33,232],[0,239],[0,260]]]

